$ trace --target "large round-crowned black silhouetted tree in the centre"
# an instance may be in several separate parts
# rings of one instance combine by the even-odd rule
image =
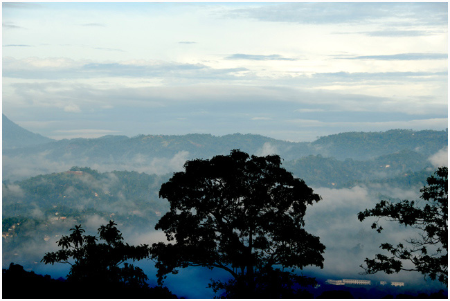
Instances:
[[[280,165],[277,155],[233,150],[187,161],[164,183],[170,211],[155,228],[174,243],[152,245],[159,283],[177,268],[222,268],[252,294],[263,268],[322,268],[325,246],[303,228],[307,205],[321,197]]]

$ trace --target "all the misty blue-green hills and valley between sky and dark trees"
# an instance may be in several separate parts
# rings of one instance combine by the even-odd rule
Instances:
[[[153,230],[154,224],[168,210],[168,201],[158,197],[161,184],[186,160],[241,149],[258,156],[280,154],[282,166],[323,198],[307,209],[305,223],[327,247],[325,267],[304,272],[325,279],[361,277],[359,265],[377,253],[381,242],[399,241],[411,232],[387,224],[378,234],[370,229],[371,221],[358,221],[357,213],[380,199],[418,199],[426,178],[447,165],[447,129],[349,132],[312,143],[253,134],[189,134],[39,140],[34,145],[28,138],[35,136],[18,129],[3,127],[3,137],[15,133],[16,140],[3,148],[2,255],[6,266],[15,262],[33,271],[46,268],[39,262],[42,255],[54,250],[58,237],[74,224],[95,234],[98,226],[115,219],[132,244],[160,241],[163,235]],[[144,268],[149,277],[154,275],[151,264]],[[65,270],[53,273],[66,275]],[[417,274],[371,279],[378,277],[423,282]]]

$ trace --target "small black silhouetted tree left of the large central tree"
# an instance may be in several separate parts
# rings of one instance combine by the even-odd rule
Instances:
[[[71,234],[57,241],[61,247],[57,252],[46,253],[42,262],[70,264],[67,279],[71,282],[122,283],[128,286],[147,286],[147,276],[141,268],[127,263],[127,260],[141,260],[150,255],[146,244],[129,246],[123,243],[123,237],[114,221],[98,228],[98,234],[105,243],[97,243],[92,235],[83,235],[79,226],[71,228]]]

